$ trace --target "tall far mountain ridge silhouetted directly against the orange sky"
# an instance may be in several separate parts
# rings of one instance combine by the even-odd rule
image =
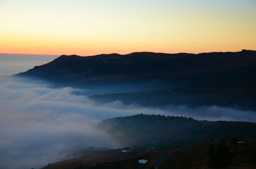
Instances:
[[[182,84],[255,86],[256,51],[202,54],[135,52],[89,57],[61,55],[19,76],[66,84],[91,82],[172,82]],[[225,80],[225,82],[223,82]]]

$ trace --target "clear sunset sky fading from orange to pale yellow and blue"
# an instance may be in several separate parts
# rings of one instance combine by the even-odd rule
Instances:
[[[256,0],[0,0],[0,53],[256,50]]]

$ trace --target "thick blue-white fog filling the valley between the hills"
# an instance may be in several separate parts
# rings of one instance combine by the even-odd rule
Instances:
[[[40,168],[86,147],[124,147],[97,129],[103,119],[134,114],[163,114],[212,121],[256,122],[255,112],[186,106],[144,108],[120,101],[98,105],[79,89],[51,89],[43,82],[0,78],[0,168]]]

